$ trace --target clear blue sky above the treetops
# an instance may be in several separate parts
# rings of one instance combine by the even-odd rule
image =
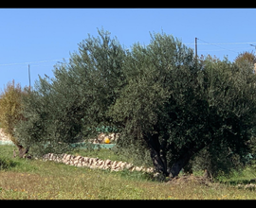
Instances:
[[[162,30],[192,48],[197,37],[199,56],[233,61],[255,52],[255,15],[256,9],[0,9],[0,89],[12,79],[28,85],[28,63],[32,86],[38,75],[53,77],[53,65],[88,33],[97,36],[97,27],[125,47],[148,44],[150,32]]]

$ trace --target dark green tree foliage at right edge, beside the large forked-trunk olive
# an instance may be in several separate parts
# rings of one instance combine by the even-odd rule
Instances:
[[[208,93],[219,116],[216,121],[221,132],[219,138],[196,154],[190,166],[195,170],[208,169],[213,177],[220,173],[229,175],[233,169],[238,171],[253,162],[255,76],[247,62],[231,64],[211,58],[202,62],[209,77],[217,70],[221,75],[211,79]]]

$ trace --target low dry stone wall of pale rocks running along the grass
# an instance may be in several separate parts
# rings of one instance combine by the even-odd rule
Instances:
[[[111,171],[119,171],[128,169],[130,171],[143,171],[148,173],[153,173],[154,168],[145,168],[143,166],[135,166],[121,161],[111,161],[111,160],[101,160],[99,158],[89,158],[82,156],[74,156],[70,154],[53,154],[48,153],[43,156],[45,161],[54,161],[57,163],[64,163],[65,165],[75,165],[79,167],[89,167],[89,168],[100,168],[109,169]]]

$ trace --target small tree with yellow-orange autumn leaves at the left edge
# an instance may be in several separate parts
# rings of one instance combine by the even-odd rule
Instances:
[[[9,135],[10,140],[15,146],[19,148],[19,156],[23,157],[27,153],[28,149],[23,147],[17,137],[14,135],[15,125],[24,120],[22,110],[22,96],[27,95],[20,84],[8,82],[7,87],[4,88],[4,92],[0,95],[0,123],[4,132]]]

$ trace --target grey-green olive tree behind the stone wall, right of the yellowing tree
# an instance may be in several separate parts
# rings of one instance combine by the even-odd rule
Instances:
[[[68,62],[55,65],[54,78],[39,77],[24,98],[26,120],[16,127],[19,142],[33,155],[63,153],[108,126],[106,112],[123,85],[124,58],[125,50],[109,32],[89,35]]]

